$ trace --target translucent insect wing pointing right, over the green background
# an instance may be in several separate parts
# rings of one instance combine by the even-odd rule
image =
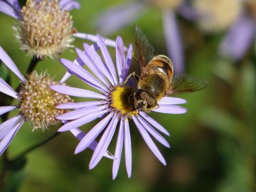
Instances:
[[[195,92],[203,90],[208,85],[206,80],[193,77],[192,75],[174,75],[170,89],[166,95],[177,95],[186,92]]]

